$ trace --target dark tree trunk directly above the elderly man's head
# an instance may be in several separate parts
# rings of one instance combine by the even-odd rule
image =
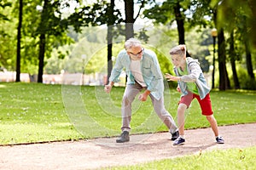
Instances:
[[[134,37],[134,7],[133,0],[125,0],[125,40]]]

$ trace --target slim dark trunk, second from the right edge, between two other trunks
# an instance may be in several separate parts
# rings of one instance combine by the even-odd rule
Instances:
[[[239,84],[239,80],[236,72],[236,52],[235,52],[235,44],[234,44],[234,30],[232,30],[230,33],[230,63],[231,63],[231,68],[233,72],[233,81],[234,81],[235,89],[239,89],[240,84]]]

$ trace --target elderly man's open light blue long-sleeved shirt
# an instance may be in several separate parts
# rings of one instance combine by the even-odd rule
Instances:
[[[126,84],[135,84],[135,79],[130,70],[130,64],[130,56],[126,53],[125,49],[121,50],[113,66],[109,82],[119,82],[121,71],[125,68],[125,73],[128,76]],[[164,91],[163,76],[156,54],[149,49],[144,49],[143,59],[141,60],[141,71],[147,89],[151,91],[155,99],[160,99]]]

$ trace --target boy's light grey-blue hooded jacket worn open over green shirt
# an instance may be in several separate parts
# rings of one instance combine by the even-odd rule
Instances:
[[[177,68],[174,67],[174,72],[178,77],[181,77],[181,81],[178,81],[178,86],[181,89],[181,92],[184,95],[187,95],[187,83],[186,82],[195,82],[195,86],[198,89],[198,93],[201,99],[204,99],[207,94],[210,92],[210,88],[207,86],[206,78],[201,71],[200,64],[197,59],[187,58],[187,70],[189,75],[179,75]]]

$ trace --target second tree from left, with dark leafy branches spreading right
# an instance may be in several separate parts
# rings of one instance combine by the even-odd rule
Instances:
[[[73,0],[73,3],[79,3],[79,1]],[[59,40],[59,43],[65,43],[68,26],[73,26],[74,30],[79,32],[81,31],[82,26],[89,26],[89,24],[93,23],[96,18],[96,14],[93,13],[93,8],[90,10],[90,6],[75,8],[75,12],[65,18],[62,16],[63,12],[61,12],[61,6],[62,8],[69,8],[70,4],[65,0],[44,0],[41,20],[37,30],[39,36],[38,82],[43,82],[45,65],[44,53],[46,46],[49,44],[48,39],[50,37],[54,37],[55,39]],[[95,7],[98,8],[99,6],[96,5]],[[96,20],[96,22],[98,22],[98,20]]]

